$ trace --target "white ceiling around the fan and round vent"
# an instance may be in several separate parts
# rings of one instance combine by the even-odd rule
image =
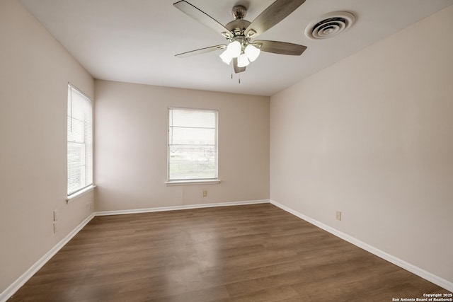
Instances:
[[[231,8],[248,8],[253,21],[274,0],[188,0],[222,24]],[[176,0],[21,0],[21,3],[96,79],[158,86],[273,95],[453,4],[453,0],[306,0],[285,20],[260,35],[306,45],[300,57],[262,52],[231,79],[222,51],[178,58],[174,54],[225,44],[222,35],[173,7]],[[348,31],[310,40],[306,25],[332,11],[356,17]],[[423,37],[420,37],[423,43]],[[435,47],[435,45],[433,45]]]

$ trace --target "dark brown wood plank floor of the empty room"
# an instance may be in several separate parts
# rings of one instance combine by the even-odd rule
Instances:
[[[392,301],[447,292],[255,204],[95,217],[10,301]]]

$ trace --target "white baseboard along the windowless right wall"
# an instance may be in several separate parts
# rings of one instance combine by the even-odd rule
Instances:
[[[346,233],[340,232],[336,228],[332,228],[331,226],[328,226],[315,219],[312,219],[311,217],[306,216],[302,213],[299,213],[298,211],[295,211],[294,209],[286,207],[283,204],[275,202],[274,200],[270,200],[270,203],[274,204],[276,207],[279,207],[282,210],[287,211],[290,214],[293,214],[294,216],[299,217],[300,219],[303,219],[304,221],[307,221],[311,224],[314,224],[315,226],[317,226],[319,228],[322,228],[324,231],[328,231],[329,233],[331,233],[343,240],[346,240],[349,243],[352,243],[353,245],[357,245],[359,248],[362,248],[364,250],[367,250],[368,252],[371,252],[373,255],[377,255],[377,257],[381,257],[382,259],[387,260],[387,261],[393,263],[394,265],[398,265],[398,267],[406,269],[408,272],[411,272],[413,274],[418,275],[419,277],[422,277],[423,279],[431,281],[432,283],[437,284],[438,286],[441,286],[444,289],[447,289],[448,291],[453,291],[453,282],[450,282],[439,276],[436,276],[435,274],[427,272],[424,269],[420,269],[420,267],[411,265],[411,263],[408,263],[404,260],[399,259],[398,257],[390,255],[387,252],[379,250],[379,248],[375,248],[372,245],[364,243],[363,241],[358,240],[357,238],[354,238]]]

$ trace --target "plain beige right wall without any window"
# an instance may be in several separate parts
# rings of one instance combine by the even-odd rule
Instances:
[[[453,6],[270,106],[271,199],[450,282],[451,28]]]

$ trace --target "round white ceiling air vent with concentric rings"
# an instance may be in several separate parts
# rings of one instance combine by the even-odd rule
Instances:
[[[347,11],[327,13],[318,18],[319,21],[311,22],[305,28],[305,35],[310,39],[327,39],[348,30],[355,21],[354,15]]]

